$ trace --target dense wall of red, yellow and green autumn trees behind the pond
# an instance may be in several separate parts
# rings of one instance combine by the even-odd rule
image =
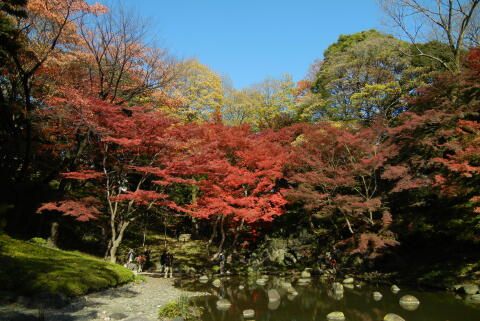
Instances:
[[[0,1],[1,229],[113,262],[191,234],[233,262],[335,247],[358,270],[474,275],[479,2],[379,1],[402,39],[342,35],[298,83],[237,90],[125,8]]]

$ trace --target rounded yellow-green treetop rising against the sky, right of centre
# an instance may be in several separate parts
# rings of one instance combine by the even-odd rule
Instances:
[[[401,97],[422,83],[426,70],[403,54],[409,44],[368,30],[342,35],[325,50],[303,103],[314,119],[369,123],[389,121],[405,109]]]

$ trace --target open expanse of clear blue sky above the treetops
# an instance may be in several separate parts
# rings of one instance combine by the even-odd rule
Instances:
[[[98,0],[97,0],[98,1]],[[196,57],[236,88],[282,73],[298,81],[340,34],[379,28],[375,0],[124,0],[158,42]]]

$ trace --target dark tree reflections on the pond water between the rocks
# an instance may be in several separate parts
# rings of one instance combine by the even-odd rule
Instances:
[[[279,278],[271,279],[266,286],[258,286],[255,282],[248,286],[247,279],[222,280],[223,296],[232,303],[227,311],[219,311],[216,307],[216,302],[221,295],[221,287],[216,289],[208,285],[208,291],[215,296],[197,298],[196,302],[197,305],[204,307],[202,320],[209,321],[241,321],[244,320],[242,312],[245,309],[253,309],[254,320],[257,321],[325,320],[327,313],[332,311],[342,311],[347,320],[360,321],[382,320],[387,312],[397,313],[403,317],[408,316],[409,313],[410,316],[415,314],[416,317],[420,319],[424,317],[426,320],[480,320],[478,309],[465,307],[461,300],[455,300],[453,296],[446,294],[408,291],[408,294],[415,295],[421,301],[417,311],[408,312],[402,310],[398,304],[400,296],[393,295],[387,287],[365,286],[362,289],[345,289],[343,297],[335,300],[329,296],[331,284],[314,279],[307,286],[298,286],[293,282],[299,295],[288,298],[289,293],[281,285],[283,282],[290,281],[292,280],[289,278]],[[239,284],[245,285],[245,289],[239,290]],[[281,297],[276,305],[272,305],[268,300],[267,291],[272,288],[275,288]],[[378,302],[373,300],[373,291],[384,294],[383,299]],[[405,292],[407,292],[406,289]],[[459,318],[462,316],[461,311],[466,311],[468,317]]]

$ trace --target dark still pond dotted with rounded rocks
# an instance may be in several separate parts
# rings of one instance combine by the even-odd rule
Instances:
[[[262,278],[263,279],[263,278]],[[201,283],[199,280],[179,280],[179,286],[187,290],[204,291],[210,296],[197,297],[194,302],[203,308],[204,321],[323,321],[333,311],[344,313],[347,321],[381,321],[387,313],[395,313],[406,321],[479,321],[480,305],[467,304],[458,295],[447,292],[418,291],[403,288],[397,294],[387,286],[357,284],[344,288],[343,295],[332,291],[333,281],[318,278],[307,279],[302,283],[293,277],[268,277],[258,282],[258,278],[230,277],[221,282]],[[305,279],[302,279],[305,280]],[[218,284],[221,283],[221,284]],[[291,286],[289,285],[291,284]],[[279,294],[275,299],[275,292]],[[383,297],[375,300],[373,293]],[[399,304],[400,298],[413,295],[420,305]],[[227,299],[231,306],[219,307],[220,299]],[[378,299],[378,297],[377,297]],[[254,310],[254,316],[243,316],[244,310]],[[413,311],[412,311],[413,310]]]

